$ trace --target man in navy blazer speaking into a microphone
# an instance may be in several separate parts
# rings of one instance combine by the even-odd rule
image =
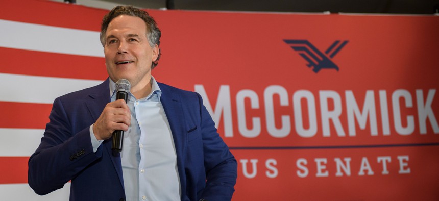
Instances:
[[[161,32],[147,12],[118,6],[103,19],[109,78],[55,99],[29,159],[40,195],[71,181],[70,200],[230,200],[237,163],[201,96],[156,82]],[[131,83],[128,104],[114,83]],[[113,152],[112,133],[125,131]]]

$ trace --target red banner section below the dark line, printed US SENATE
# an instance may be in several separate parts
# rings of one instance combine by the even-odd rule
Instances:
[[[438,196],[437,147],[417,147],[416,152],[395,147],[234,154],[240,160],[238,171],[245,173],[238,177],[233,200],[434,200]]]

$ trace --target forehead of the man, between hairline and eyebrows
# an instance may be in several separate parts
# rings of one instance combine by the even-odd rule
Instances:
[[[129,34],[143,34],[147,31],[147,24],[140,17],[119,15],[108,24],[107,36],[110,34],[133,32]],[[128,33],[127,33],[128,34]]]

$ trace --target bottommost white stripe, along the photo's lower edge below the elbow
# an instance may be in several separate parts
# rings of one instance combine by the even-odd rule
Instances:
[[[66,183],[63,188],[43,196],[36,194],[28,184],[0,184],[0,195],[2,195],[2,200],[68,200],[70,183]]]

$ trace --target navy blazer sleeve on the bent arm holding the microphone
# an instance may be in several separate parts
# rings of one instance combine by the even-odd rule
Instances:
[[[68,111],[78,108],[70,107]],[[83,110],[84,109],[83,107]],[[76,115],[71,115],[75,113]],[[35,153],[29,159],[29,186],[39,195],[60,189],[90,163],[102,156],[102,146],[93,152],[88,126],[78,127],[75,116],[81,112],[66,112],[62,99],[54,101],[50,122]],[[83,119],[81,119],[83,121]],[[84,122],[84,121],[83,121]]]

